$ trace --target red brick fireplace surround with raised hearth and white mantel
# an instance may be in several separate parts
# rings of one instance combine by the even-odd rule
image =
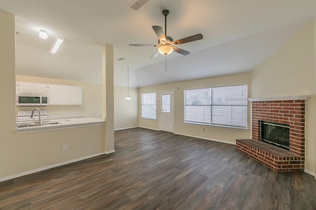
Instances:
[[[303,171],[307,97],[249,98],[252,102],[252,139],[237,139],[236,149],[276,172]],[[261,141],[262,121],[289,125],[289,150]]]

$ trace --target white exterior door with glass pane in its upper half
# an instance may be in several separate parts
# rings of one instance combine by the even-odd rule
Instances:
[[[159,130],[174,131],[174,94],[173,90],[159,91]]]

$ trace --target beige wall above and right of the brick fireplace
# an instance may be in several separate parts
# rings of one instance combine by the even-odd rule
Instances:
[[[310,95],[306,101],[306,169],[316,164],[315,22],[300,31],[251,75],[250,97]]]

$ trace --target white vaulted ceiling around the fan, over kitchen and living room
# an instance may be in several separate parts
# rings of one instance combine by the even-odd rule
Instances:
[[[140,0],[146,1],[146,0]],[[132,1],[133,3],[134,1]],[[115,85],[143,87],[249,72],[315,19],[316,0],[148,0],[138,10],[131,0],[0,0],[15,15],[16,72],[21,75],[101,83],[101,45],[114,46]],[[151,56],[153,25],[174,40],[203,34],[173,52]],[[48,38],[40,39],[40,29]],[[57,36],[64,43],[50,53]],[[124,58],[118,61],[117,59]]]

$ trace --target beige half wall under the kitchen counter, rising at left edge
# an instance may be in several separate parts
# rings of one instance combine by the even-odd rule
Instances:
[[[106,153],[106,143],[112,150],[114,139],[105,138],[106,125],[16,134],[14,20],[14,15],[0,11],[0,181]]]

